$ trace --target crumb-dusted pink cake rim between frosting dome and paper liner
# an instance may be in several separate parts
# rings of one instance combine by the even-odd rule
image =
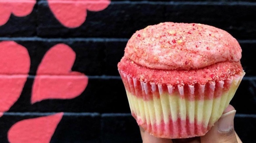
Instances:
[[[170,85],[203,85],[210,81],[225,80],[243,72],[240,61],[224,61],[195,70],[159,70],[140,66],[125,57],[118,63],[118,69],[143,82]]]

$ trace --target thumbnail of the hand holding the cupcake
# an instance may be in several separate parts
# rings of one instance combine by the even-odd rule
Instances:
[[[218,120],[219,132],[229,132],[234,129],[234,117],[236,110],[229,111],[221,116]]]

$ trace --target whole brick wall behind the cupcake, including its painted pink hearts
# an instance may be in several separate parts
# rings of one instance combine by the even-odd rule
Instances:
[[[165,21],[239,40],[246,76],[231,101],[235,129],[256,142],[255,18],[255,0],[0,1],[0,142],[141,142],[117,62],[136,30]]]

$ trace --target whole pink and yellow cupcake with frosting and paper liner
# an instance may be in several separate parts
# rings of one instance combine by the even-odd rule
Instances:
[[[118,63],[132,116],[156,137],[205,135],[245,74],[241,52],[235,38],[209,25],[166,22],[137,31]]]

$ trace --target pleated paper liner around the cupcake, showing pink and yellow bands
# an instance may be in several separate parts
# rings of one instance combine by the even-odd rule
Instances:
[[[245,72],[205,85],[144,83],[119,71],[137,123],[161,138],[202,136],[221,117]]]

